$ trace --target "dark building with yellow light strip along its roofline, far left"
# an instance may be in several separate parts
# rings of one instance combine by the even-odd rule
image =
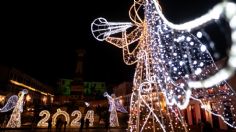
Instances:
[[[54,100],[53,88],[41,83],[33,77],[6,66],[0,66],[0,104],[22,89],[29,92],[26,95],[26,105],[50,105]]]

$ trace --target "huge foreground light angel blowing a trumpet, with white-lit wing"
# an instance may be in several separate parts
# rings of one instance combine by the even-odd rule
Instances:
[[[207,43],[201,42],[204,34],[197,32],[195,36],[191,31],[200,29],[211,20],[219,19],[227,9],[234,10],[225,16],[231,24],[235,47],[236,8],[230,2],[220,3],[206,15],[180,25],[175,25],[164,17],[156,0],[134,0],[129,11],[132,23],[108,22],[104,18],[93,21],[93,36],[99,41],[105,40],[121,48],[127,65],[136,64],[130,100],[129,131],[188,131],[181,110],[188,107],[190,99],[198,102],[203,110],[236,128],[235,117],[229,117],[224,112],[226,100],[230,102],[232,110],[235,102],[235,93],[224,81],[226,78],[211,85],[212,87],[209,85],[193,89],[192,86],[199,84],[196,81],[216,73],[218,68],[207,49]],[[143,10],[144,16],[141,17],[138,13]],[[135,48],[130,50],[130,45]],[[236,52],[230,53],[235,58]],[[232,67],[235,65],[231,64],[231,71],[234,69]],[[209,96],[209,92],[217,94]],[[213,109],[209,107],[209,103],[214,100],[217,101]]]

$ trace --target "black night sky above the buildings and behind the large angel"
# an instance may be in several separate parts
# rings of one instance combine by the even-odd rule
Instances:
[[[92,37],[97,17],[129,22],[132,0],[84,0],[9,3],[1,13],[0,64],[15,67],[49,85],[74,77],[76,49],[85,49],[85,81],[131,81],[135,66],[126,66],[122,50]],[[175,23],[193,19],[216,0],[161,0]],[[204,3],[204,4],[203,4]]]

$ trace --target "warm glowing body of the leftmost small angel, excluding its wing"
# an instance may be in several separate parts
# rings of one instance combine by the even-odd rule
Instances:
[[[16,106],[13,109],[10,120],[7,123],[6,128],[19,128],[21,127],[21,113],[23,112],[24,96],[28,93],[28,90],[23,89],[19,92],[19,99]],[[15,97],[16,98],[16,97]]]

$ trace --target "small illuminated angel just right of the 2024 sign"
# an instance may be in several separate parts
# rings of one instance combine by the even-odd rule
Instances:
[[[111,96],[105,92],[104,97],[107,97],[109,101],[109,112],[110,112],[110,127],[118,127],[119,121],[117,117],[117,112],[120,111],[122,113],[128,113],[125,108],[120,104],[119,99],[115,97],[115,94],[112,94]]]

